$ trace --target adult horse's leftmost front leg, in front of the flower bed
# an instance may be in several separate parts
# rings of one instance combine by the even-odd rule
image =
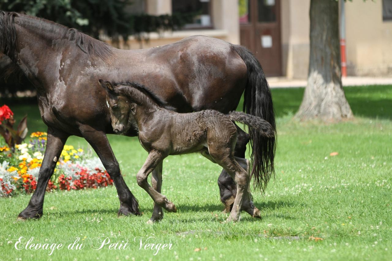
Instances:
[[[37,187],[33,196],[31,196],[29,205],[20,212],[18,219],[38,219],[42,216],[42,208],[44,206],[44,197],[48,181],[53,175],[57,160],[64,148],[65,141],[67,141],[67,138],[69,137],[68,134],[54,130],[50,127],[48,128],[47,133],[45,155],[38,174]]]

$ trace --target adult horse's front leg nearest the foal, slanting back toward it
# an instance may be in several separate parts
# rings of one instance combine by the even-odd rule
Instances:
[[[93,129],[90,126],[81,128],[83,138],[93,147],[94,151],[102,161],[107,173],[114,181],[117,189],[118,199],[120,199],[120,209],[118,216],[130,214],[141,215],[137,199],[132,195],[127,184],[121,175],[120,166],[114,157],[113,150],[104,132]]]

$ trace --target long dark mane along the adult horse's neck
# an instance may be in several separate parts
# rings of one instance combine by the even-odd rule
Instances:
[[[4,53],[13,60],[17,58],[17,39],[15,28],[15,17],[26,17],[38,24],[38,27],[45,31],[54,31],[59,37],[67,37],[69,41],[86,53],[90,58],[100,58],[104,61],[113,54],[112,47],[100,40],[94,39],[87,34],[83,34],[74,28],[68,28],[55,22],[19,14],[15,12],[0,11],[0,53]]]

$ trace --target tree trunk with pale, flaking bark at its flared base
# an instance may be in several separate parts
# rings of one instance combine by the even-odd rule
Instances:
[[[341,83],[338,3],[335,0],[310,1],[308,84],[296,114],[301,120],[352,118]]]

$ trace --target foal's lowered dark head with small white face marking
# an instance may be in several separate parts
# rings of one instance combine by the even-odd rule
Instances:
[[[109,107],[114,132],[125,134],[130,128],[137,129],[133,116],[136,112],[136,104],[114,91],[111,82],[99,80],[99,83],[107,90],[106,104]]]

